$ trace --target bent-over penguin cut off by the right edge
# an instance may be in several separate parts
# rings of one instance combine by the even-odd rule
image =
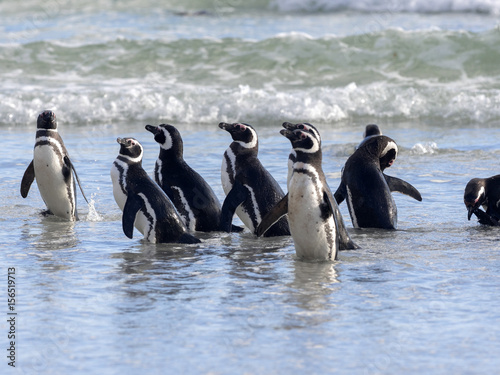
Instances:
[[[499,226],[500,175],[470,180],[465,187],[464,203],[468,211],[468,220],[474,214],[480,224]],[[484,211],[481,210],[481,206]]]

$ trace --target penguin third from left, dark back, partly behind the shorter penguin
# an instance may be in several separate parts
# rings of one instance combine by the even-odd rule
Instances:
[[[156,160],[155,181],[170,198],[190,231],[219,230],[221,205],[214,191],[183,157],[180,132],[173,125],[146,125],[160,145]],[[243,228],[233,226],[233,231]]]

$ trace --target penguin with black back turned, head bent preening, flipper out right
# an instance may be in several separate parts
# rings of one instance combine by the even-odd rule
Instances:
[[[335,199],[338,204],[347,199],[355,228],[396,229],[397,208],[391,191],[422,200],[411,184],[382,173],[393,164],[397,152],[393,139],[373,135],[347,159]]]

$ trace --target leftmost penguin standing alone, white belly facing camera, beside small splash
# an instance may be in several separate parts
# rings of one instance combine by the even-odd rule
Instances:
[[[68,151],[57,131],[56,115],[44,111],[38,115],[33,160],[24,172],[21,181],[21,196],[26,198],[36,178],[38,190],[47,205],[47,214],[68,220],[78,220],[76,208],[76,185],[73,173],[87,201],[71,163]]]

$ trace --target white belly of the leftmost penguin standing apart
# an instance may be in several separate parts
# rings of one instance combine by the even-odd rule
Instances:
[[[33,160],[35,179],[47,208],[56,216],[75,220],[75,185],[72,171],[70,170],[68,186],[64,181],[62,161],[49,145],[35,147]]]

